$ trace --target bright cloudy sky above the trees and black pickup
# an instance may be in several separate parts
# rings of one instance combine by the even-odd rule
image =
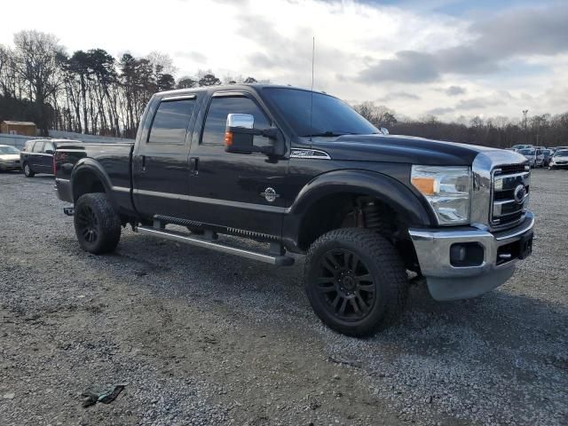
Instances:
[[[177,77],[211,68],[309,87],[398,114],[568,111],[568,1],[18,0],[0,43],[37,29],[67,51],[169,53]]]

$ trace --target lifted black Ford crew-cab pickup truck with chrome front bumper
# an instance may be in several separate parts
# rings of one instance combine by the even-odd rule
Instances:
[[[141,120],[134,144],[57,147],[57,193],[91,253],[130,224],[271,264],[306,255],[314,311],[357,336],[397,318],[408,272],[437,300],[467,298],[531,253],[530,168],[516,153],[389,136],[340,99],[288,86],[157,93]]]

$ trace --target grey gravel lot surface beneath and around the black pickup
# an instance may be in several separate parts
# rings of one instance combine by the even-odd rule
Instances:
[[[568,424],[568,172],[532,184],[533,256],[506,285],[453,303],[414,286],[396,326],[357,340],[316,319],[301,258],[130,230],[92,256],[51,177],[0,174],[0,424]]]

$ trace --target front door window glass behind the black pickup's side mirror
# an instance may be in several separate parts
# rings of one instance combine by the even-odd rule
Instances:
[[[254,100],[244,96],[213,98],[209,104],[205,126],[203,126],[202,144],[224,144],[228,114],[251,114],[255,117],[255,129],[264,130],[270,127],[270,122]],[[266,138],[255,136],[255,143],[265,144]]]

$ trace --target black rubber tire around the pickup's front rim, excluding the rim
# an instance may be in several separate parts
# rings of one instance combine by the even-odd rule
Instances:
[[[333,303],[330,302],[330,299],[334,298],[335,301],[337,296],[334,296],[334,290],[330,291],[328,288],[330,288],[330,284],[335,288],[338,288],[337,286],[343,288],[343,284],[337,284],[337,282],[343,283],[344,278],[326,284],[327,291],[325,293],[320,291],[323,285],[318,280],[324,280],[320,278],[320,274],[326,269],[325,266],[322,266],[322,262],[329,254],[341,258],[341,255],[337,253],[342,252],[352,253],[359,257],[359,262],[364,265],[368,272],[364,276],[372,277],[372,283],[375,286],[374,302],[365,313],[366,316],[361,319],[342,319],[340,313],[332,312],[335,309],[332,309]],[[335,259],[337,260],[338,257],[335,257]],[[348,259],[349,257],[344,263],[349,264]],[[354,260],[351,260],[351,264],[354,262]],[[358,266],[355,265],[354,270],[356,272],[353,276],[357,276],[357,269]],[[335,270],[337,270],[336,267]],[[337,271],[330,272],[329,269],[327,271],[336,276]],[[361,270],[359,269],[359,271]],[[343,274],[343,272],[341,273]],[[361,288],[359,295],[365,295],[365,290],[362,290],[362,288],[369,288],[369,286],[361,283],[369,282],[369,280],[360,281],[358,277],[355,281],[355,290],[351,293],[351,296],[356,294],[355,291],[359,287]],[[351,283],[351,285],[353,284]],[[305,259],[304,286],[314,312],[328,327],[343,335],[366,337],[374,335],[377,331],[398,319],[406,304],[408,277],[406,268],[400,256],[398,256],[398,251],[390,244],[390,241],[370,229],[342,228],[325,233],[310,247]],[[327,296],[321,296],[322,294]],[[336,291],[335,295],[340,295],[340,292]],[[368,293],[367,296],[369,296]],[[351,300],[347,304],[351,304]],[[355,304],[359,304],[359,302],[356,301]],[[361,306],[362,304],[359,304],[359,307]],[[351,311],[354,315],[357,315],[354,306],[351,307]],[[360,311],[364,312],[363,309]]]

